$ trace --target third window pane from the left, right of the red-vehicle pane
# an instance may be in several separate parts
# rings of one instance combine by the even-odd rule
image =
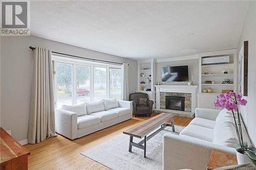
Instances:
[[[106,68],[94,67],[94,101],[106,98]]]

